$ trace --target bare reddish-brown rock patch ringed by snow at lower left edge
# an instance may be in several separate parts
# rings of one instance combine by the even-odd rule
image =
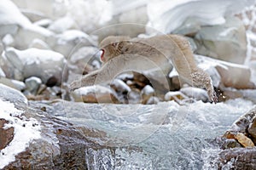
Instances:
[[[14,139],[14,127],[3,128],[8,123],[4,119],[0,119],[0,150],[3,150]]]

